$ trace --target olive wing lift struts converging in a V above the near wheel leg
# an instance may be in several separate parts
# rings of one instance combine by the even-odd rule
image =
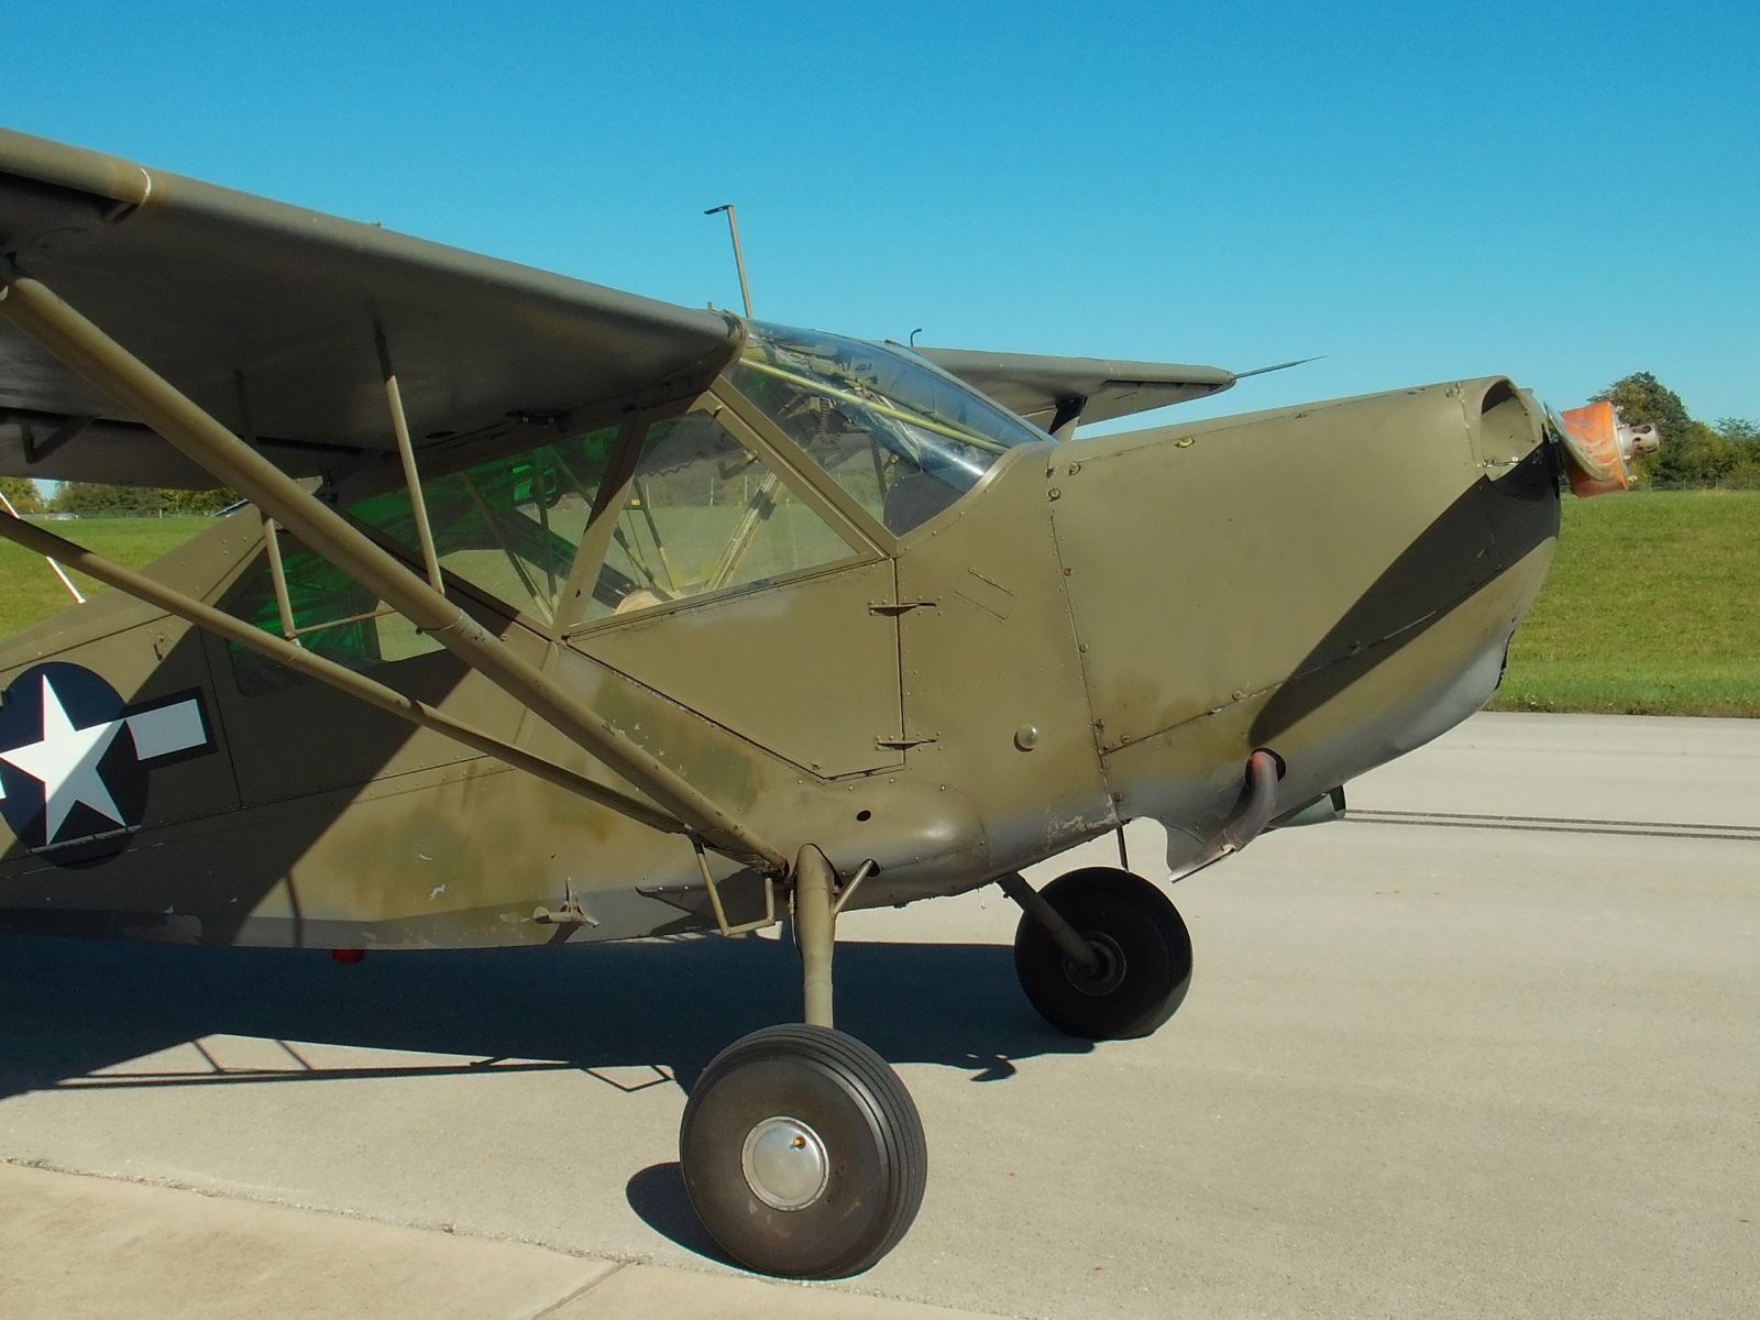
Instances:
[[[222,426],[146,363],[62,301],[55,290],[11,264],[0,268],[0,315],[79,377],[123,405],[183,456],[199,463],[218,484],[232,488],[257,505],[266,523],[273,521],[297,535],[310,549],[377,593],[392,611],[408,618],[419,630],[444,644],[540,720],[635,785],[649,801],[484,734],[426,702],[313,655],[292,637],[275,637],[262,632],[23,519],[0,514],[0,537],[37,554],[49,554],[107,586],[164,609],[167,614],[208,628],[225,641],[259,651],[410,723],[452,737],[475,752],[496,757],[514,769],[620,811],[651,829],[686,834],[699,847],[706,845],[766,875],[780,876],[792,869],[788,857],[780,848],[755,834],[702,788],[630,739],[445,597],[428,510],[421,498],[403,400],[384,338],[378,340],[380,366],[385,375],[385,396],[398,452],[410,486],[426,577],[414,574],[356,524],[303,489],[299,482]],[[275,526],[264,530],[268,544],[273,547]],[[280,576],[276,574],[276,577]],[[290,618],[283,609],[283,632],[289,630],[289,623]]]

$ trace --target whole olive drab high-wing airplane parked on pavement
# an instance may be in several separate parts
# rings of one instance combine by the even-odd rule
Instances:
[[[1477,711],[1561,479],[1501,377],[1105,438],[1209,366],[686,310],[0,134],[0,473],[245,502],[0,646],[0,929],[588,943],[792,920],[801,1024],[679,1137],[736,1260],[866,1269],[928,1176],[832,1028],[838,913],[996,884],[1033,1007],[1179,1007],[1162,889],[1021,869],[1126,820],[1184,876]]]

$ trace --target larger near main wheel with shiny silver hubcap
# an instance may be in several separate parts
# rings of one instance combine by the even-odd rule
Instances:
[[[824,1026],[771,1026],[716,1054],[685,1104],[678,1160],[727,1255],[801,1280],[880,1260],[917,1218],[929,1174],[905,1082]]]

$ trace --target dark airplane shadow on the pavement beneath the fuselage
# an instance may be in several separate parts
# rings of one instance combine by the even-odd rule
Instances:
[[[1021,994],[1012,950],[840,942],[838,1026],[892,1063],[1003,1081],[1082,1052]],[[0,936],[0,1098],[56,1086],[215,1086],[572,1068],[627,1091],[685,1089],[727,1044],[797,1021],[799,963],[774,940],[375,954]],[[231,1035],[282,1042],[285,1067],[118,1068]],[[444,1054],[308,1063],[301,1044]],[[114,1072],[106,1072],[113,1070]],[[100,1075],[93,1075],[100,1074]]]

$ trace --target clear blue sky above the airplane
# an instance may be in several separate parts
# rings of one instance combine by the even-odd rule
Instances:
[[[732,201],[774,320],[1760,419],[1751,4],[5,16],[7,127],[678,303]]]

